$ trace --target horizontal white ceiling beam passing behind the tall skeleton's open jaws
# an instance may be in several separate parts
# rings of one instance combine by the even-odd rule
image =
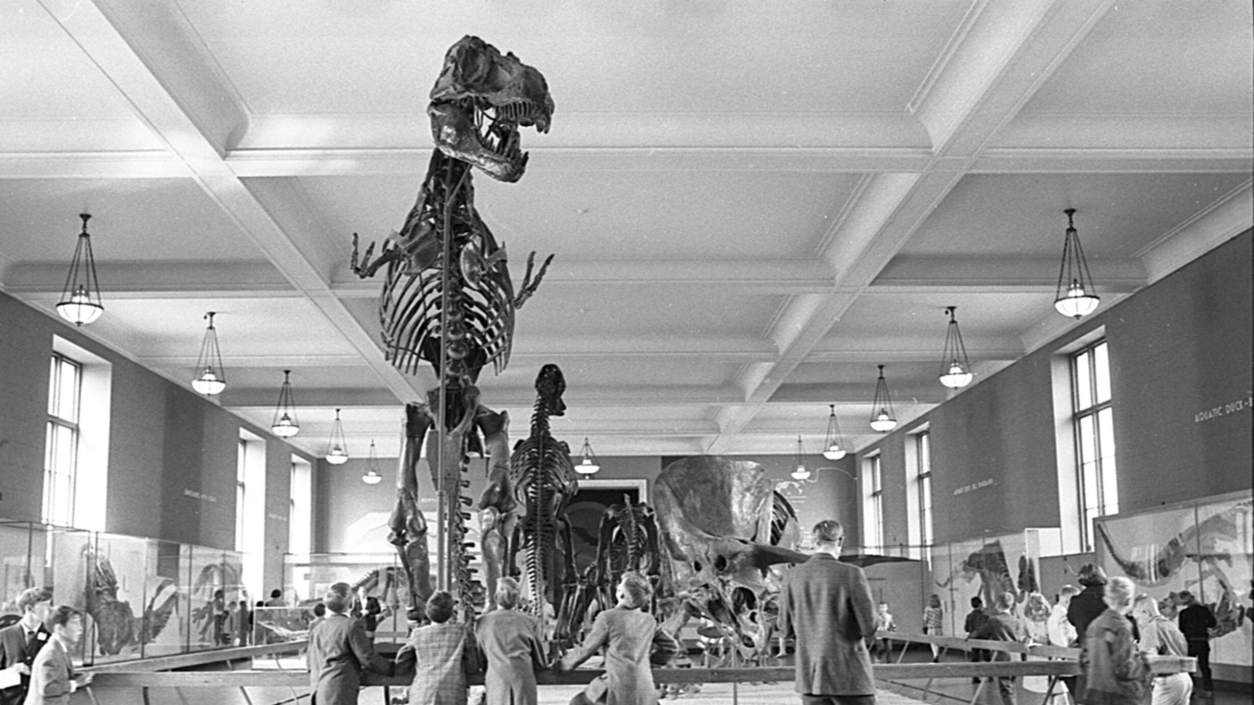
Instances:
[[[44,125],[46,130],[46,125]],[[1201,134],[1201,130],[1198,130]],[[46,131],[45,131],[46,134]],[[934,158],[924,149],[705,148],[533,149],[532,163],[558,172],[794,172],[885,173],[966,170],[988,174],[1156,174],[1248,170],[1254,149],[1243,144],[1156,144],[1135,148],[998,147],[978,157]],[[418,178],[426,149],[273,149],[229,152],[240,178],[393,174]],[[168,179],[194,177],[184,160],[161,152],[0,152],[0,179]]]

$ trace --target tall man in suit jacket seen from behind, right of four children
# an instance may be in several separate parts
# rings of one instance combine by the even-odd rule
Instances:
[[[796,644],[795,690],[803,705],[873,705],[870,584],[836,560],[845,541],[839,521],[820,521],[813,533],[815,553],[789,569],[780,592],[780,634]]]

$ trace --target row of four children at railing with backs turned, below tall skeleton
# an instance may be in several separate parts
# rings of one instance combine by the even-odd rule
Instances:
[[[480,670],[485,671],[487,705],[535,705],[535,671],[571,670],[599,650],[606,672],[576,695],[572,705],[656,705],[651,666],[666,664],[680,649],[646,611],[652,585],[637,572],[623,574],[617,605],[597,614],[583,644],[552,662],[539,620],[519,609],[514,579],[498,581],[497,609],[479,617],[473,629],[454,621],[451,595],[434,592],[425,606],[429,624],[410,632],[395,661],[379,656],[362,621],[349,615],[349,590],[345,582],[331,586],[324,599],[326,616],[310,630],[314,705],[355,704],[364,670],[400,675],[410,669],[410,705],[465,705],[466,674]]]

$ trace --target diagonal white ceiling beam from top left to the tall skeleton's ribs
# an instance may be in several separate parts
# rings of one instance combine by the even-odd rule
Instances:
[[[372,337],[331,294],[319,267],[227,167],[223,154],[246,130],[246,113],[206,59],[194,29],[176,4],[95,0],[68,6],[55,0],[41,1],[118,88],[134,114],[188,165],[204,193],[371,362],[387,389],[398,398],[410,398],[419,389],[414,382],[433,383],[429,372],[410,379],[382,359]]]

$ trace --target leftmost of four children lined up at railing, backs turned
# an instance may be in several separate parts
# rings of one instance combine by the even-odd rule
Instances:
[[[393,662],[375,654],[361,622],[350,617],[352,596],[347,582],[336,582],[322,597],[326,619],[310,630],[306,657],[312,705],[356,705],[362,669],[393,675]]]

